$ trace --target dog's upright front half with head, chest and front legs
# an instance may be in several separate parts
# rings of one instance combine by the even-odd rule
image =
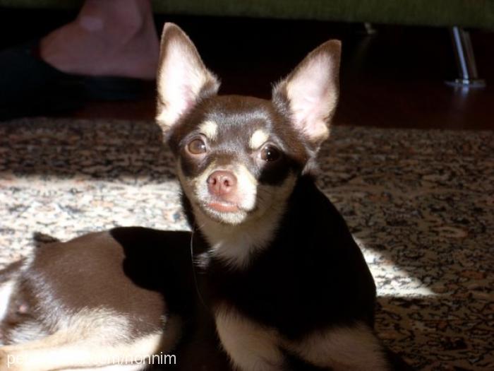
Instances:
[[[375,336],[373,277],[313,177],[337,106],[340,42],[309,53],[271,100],[217,95],[217,77],[175,25],[162,55],[157,123],[177,158],[200,293],[231,364],[406,369]]]

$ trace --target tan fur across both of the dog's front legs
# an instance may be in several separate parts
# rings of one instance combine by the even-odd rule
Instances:
[[[242,371],[283,370],[280,349],[306,363],[335,371],[388,370],[378,338],[364,324],[318,330],[300,341],[291,341],[232,307],[218,307],[215,319],[224,350]]]

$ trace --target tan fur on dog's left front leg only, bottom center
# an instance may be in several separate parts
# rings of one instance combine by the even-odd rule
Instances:
[[[222,346],[239,370],[282,370],[277,331],[260,326],[231,307],[215,310],[215,317]]]

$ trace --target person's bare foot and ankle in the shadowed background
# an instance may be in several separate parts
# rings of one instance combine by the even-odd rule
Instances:
[[[42,59],[66,73],[155,78],[159,42],[149,0],[86,0],[76,20],[41,40]]]

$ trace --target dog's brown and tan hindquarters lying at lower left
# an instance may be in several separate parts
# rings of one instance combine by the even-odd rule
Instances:
[[[129,232],[140,240],[131,240]],[[7,345],[0,348],[0,370],[74,365],[92,370],[124,363],[125,357],[169,353],[179,338],[183,312],[167,307],[163,296],[173,298],[173,287],[180,285],[183,302],[191,298],[189,271],[173,268],[190,266],[183,261],[190,256],[178,249],[188,240],[186,232],[117,228],[37,248],[31,259],[4,274],[11,300],[0,327],[0,341]],[[162,259],[156,269],[155,259],[163,254],[152,249],[164,242],[170,242],[167,254],[174,264]],[[164,285],[172,276],[176,285]],[[142,365],[129,361],[109,368],[114,369],[140,370]]]

